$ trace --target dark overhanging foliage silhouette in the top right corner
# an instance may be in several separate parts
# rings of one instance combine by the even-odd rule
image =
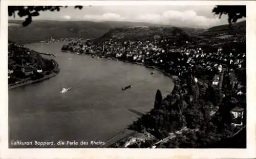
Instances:
[[[220,15],[219,18],[221,18],[223,14],[227,14],[228,23],[231,25],[231,23],[237,22],[238,19],[246,17],[246,6],[216,6],[212,9],[212,12],[216,15]]]

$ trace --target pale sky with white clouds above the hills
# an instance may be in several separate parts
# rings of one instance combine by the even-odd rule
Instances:
[[[194,28],[209,28],[227,24],[227,16],[219,19],[212,13],[214,6],[83,6],[82,10],[73,6],[59,12],[40,12],[33,19],[85,20],[85,21],[133,21],[169,24]],[[9,19],[20,19],[9,17]],[[25,19],[25,18],[22,18]]]

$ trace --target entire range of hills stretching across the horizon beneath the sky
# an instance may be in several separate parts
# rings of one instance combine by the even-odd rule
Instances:
[[[152,24],[130,21],[55,21],[34,20],[27,27],[23,27],[22,20],[9,20],[9,40],[20,44],[44,41],[55,38],[90,38],[102,41],[104,39],[149,39],[156,37],[168,38],[199,38],[218,37],[229,38],[239,33],[245,36],[245,21],[228,25],[219,25],[207,30],[200,28],[177,28],[172,25]]]

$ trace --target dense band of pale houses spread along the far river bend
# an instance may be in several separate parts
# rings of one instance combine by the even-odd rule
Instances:
[[[156,38],[154,40],[144,41],[116,41],[105,40],[98,45],[93,45],[91,41],[78,41],[69,43],[62,48],[73,52],[87,53],[94,55],[103,55],[105,57],[113,57],[125,61],[141,63],[143,65],[157,66],[164,69],[167,73],[178,75],[180,77],[188,71],[202,71],[202,76],[208,72],[214,72],[215,75],[211,81],[212,86],[222,87],[223,74],[227,74],[229,68],[229,76],[232,78],[232,88],[236,90],[236,95],[245,95],[246,86],[238,81],[234,70],[246,68],[246,54],[240,52],[236,48],[223,50],[221,46],[205,51],[207,48],[189,47],[189,41],[182,41],[183,46],[177,46],[176,41],[172,39]],[[233,43],[241,43],[243,41],[233,41]],[[65,50],[64,49],[64,50]],[[198,78],[194,77],[197,82]],[[242,91],[243,90],[243,91]],[[225,96],[225,94],[224,94]],[[236,114],[234,109],[232,112]],[[235,113],[234,113],[235,112]],[[240,116],[241,115],[241,116]],[[239,117],[242,113],[238,112]],[[236,116],[236,117],[237,117]],[[241,123],[237,123],[241,124]]]

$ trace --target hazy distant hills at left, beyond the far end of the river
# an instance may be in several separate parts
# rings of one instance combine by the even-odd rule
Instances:
[[[20,44],[39,42],[55,38],[99,38],[114,28],[127,26],[168,26],[144,22],[129,21],[55,21],[55,20],[34,20],[30,25],[23,27],[22,20],[9,20],[9,40]]]

